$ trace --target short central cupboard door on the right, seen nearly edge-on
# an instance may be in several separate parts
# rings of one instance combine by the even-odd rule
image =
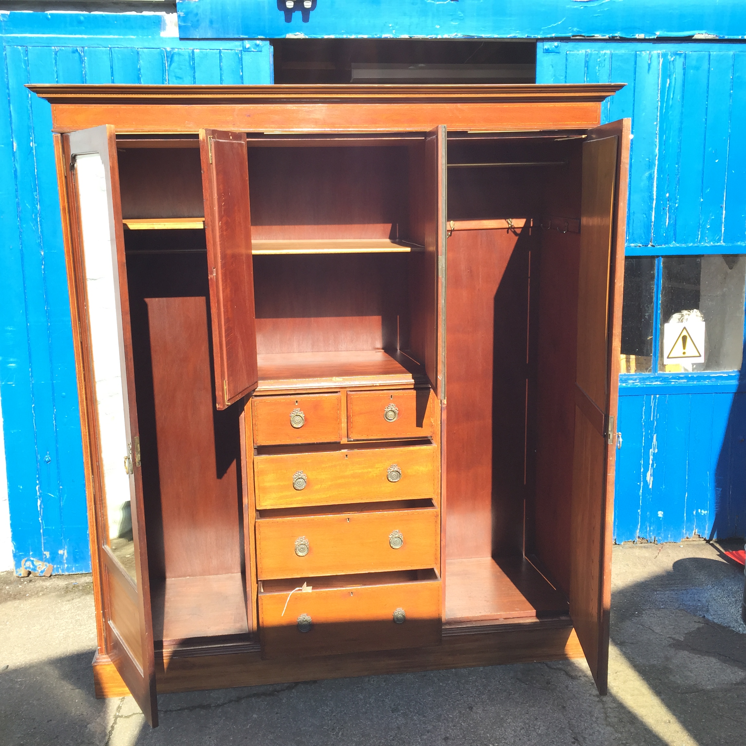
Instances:
[[[431,275],[432,281],[428,284],[432,287],[433,294],[421,299],[427,304],[423,316],[431,320],[422,352],[427,378],[439,399],[445,399],[445,219],[448,184],[446,147],[445,125],[436,127],[425,136],[424,271]]]

